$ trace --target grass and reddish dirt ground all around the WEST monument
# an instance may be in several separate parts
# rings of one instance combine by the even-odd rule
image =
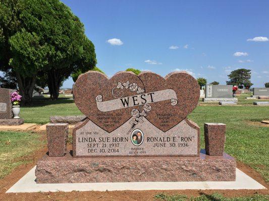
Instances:
[[[268,188],[269,182],[269,126],[260,123],[269,120],[269,107],[253,106],[250,94],[238,95],[236,106],[199,102],[188,118],[201,129],[201,148],[204,148],[203,124],[217,122],[227,125],[225,152],[237,159],[237,167]],[[81,115],[72,98],[59,100],[34,99],[33,107],[22,107],[25,123],[39,125],[49,122],[50,116]],[[69,131],[71,146],[72,130]],[[27,173],[45,152],[45,132],[0,131],[0,200],[268,200],[267,190],[174,190],[174,191],[106,191],[106,192],[37,192],[9,193],[5,191]],[[182,195],[184,194],[184,195]],[[225,199],[224,196],[245,198]]]

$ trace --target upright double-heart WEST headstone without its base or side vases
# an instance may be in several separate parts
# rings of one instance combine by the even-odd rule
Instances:
[[[186,72],[89,71],[73,87],[88,118],[73,130],[74,156],[198,156],[200,128],[186,117],[199,85]]]

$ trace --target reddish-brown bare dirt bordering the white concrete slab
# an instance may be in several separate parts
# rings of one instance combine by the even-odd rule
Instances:
[[[43,133],[44,134],[44,133]],[[42,135],[45,138],[45,134]],[[71,147],[69,144],[68,147]],[[34,152],[30,156],[26,156],[25,159],[32,159],[33,162],[27,165],[21,165],[16,168],[11,174],[0,180],[0,200],[155,200],[154,196],[158,193],[166,194],[185,194],[187,196],[198,196],[201,194],[212,194],[219,192],[224,196],[247,196],[256,193],[269,194],[267,189],[264,190],[124,190],[124,191],[73,191],[73,192],[35,192],[35,193],[5,193],[14,183],[16,183],[22,176],[24,176],[33,166],[36,161],[41,158],[47,152],[46,146],[40,150]],[[23,158],[20,158],[20,160]],[[245,172],[247,175],[254,178],[256,181],[268,188],[262,177],[255,170],[245,165],[242,162],[237,161],[237,167]]]

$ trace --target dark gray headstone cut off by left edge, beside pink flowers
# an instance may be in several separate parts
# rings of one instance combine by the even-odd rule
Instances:
[[[12,103],[10,100],[10,94],[13,89],[0,88],[0,119],[12,119]]]

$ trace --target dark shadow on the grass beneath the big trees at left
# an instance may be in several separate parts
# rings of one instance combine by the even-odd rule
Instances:
[[[31,106],[22,106],[22,108],[33,108],[42,107],[57,104],[73,104],[74,100],[70,97],[59,97],[57,100],[51,100],[48,97],[44,98],[33,98],[33,103]]]

